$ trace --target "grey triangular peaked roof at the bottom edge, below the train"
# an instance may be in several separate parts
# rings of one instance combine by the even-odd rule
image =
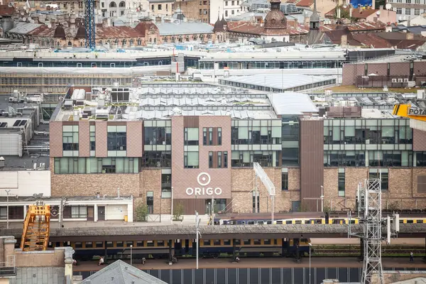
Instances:
[[[155,278],[140,269],[131,266],[124,261],[116,261],[105,266],[97,273],[90,275],[80,284],[166,284],[164,281]]]

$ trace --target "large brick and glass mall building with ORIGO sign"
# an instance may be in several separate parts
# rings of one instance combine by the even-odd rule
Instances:
[[[349,96],[349,97],[347,97]],[[259,163],[275,212],[354,209],[356,189],[382,178],[383,206],[426,206],[426,133],[391,115],[378,94],[312,100],[207,84],[70,88],[50,120],[53,197],[133,195],[154,214],[253,212]],[[367,102],[368,101],[368,102]],[[423,152],[425,151],[425,152]],[[271,211],[257,182],[261,212]]]

